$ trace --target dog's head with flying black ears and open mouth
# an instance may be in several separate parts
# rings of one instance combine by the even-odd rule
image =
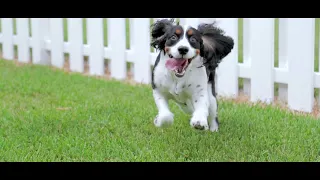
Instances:
[[[152,25],[151,46],[168,56],[166,67],[177,77],[184,76],[192,60],[202,57],[202,63],[214,70],[234,46],[231,37],[212,24],[197,28],[174,24],[174,19],[161,19]]]

